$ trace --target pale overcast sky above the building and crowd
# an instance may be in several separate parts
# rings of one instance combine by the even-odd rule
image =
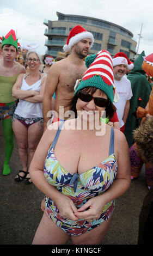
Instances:
[[[38,42],[39,52],[45,53],[44,46],[47,28],[44,19],[58,20],[56,12],[94,17],[113,22],[133,33],[133,39],[139,41],[138,53],[145,55],[153,52],[153,15],[152,0],[0,0],[0,36],[14,29],[21,46],[28,42]],[[83,25],[82,25],[83,26]]]

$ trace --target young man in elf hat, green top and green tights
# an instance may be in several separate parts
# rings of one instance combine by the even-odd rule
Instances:
[[[15,98],[12,96],[12,88],[21,73],[26,69],[15,62],[17,56],[17,40],[13,29],[2,40],[3,59],[0,60],[0,120],[2,120],[5,139],[5,160],[3,175],[10,174],[9,160],[14,148],[13,129],[11,117],[16,107]]]

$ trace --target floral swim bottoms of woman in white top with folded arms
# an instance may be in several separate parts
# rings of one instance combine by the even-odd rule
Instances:
[[[20,115],[17,115],[17,114],[14,114],[13,115],[13,118],[12,118],[12,121],[14,121],[14,118],[16,118],[17,120],[20,121],[20,123],[22,123],[23,125],[25,125],[27,128],[36,123],[36,122],[39,122],[38,125],[41,126],[41,129],[44,127],[44,119],[41,118],[41,117],[38,117],[38,118],[24,118],[24,117],[20,117]]]

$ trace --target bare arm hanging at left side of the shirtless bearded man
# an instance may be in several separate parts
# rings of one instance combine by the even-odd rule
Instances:
[[[47,121],[50,120],[51,117],[47,117],[48,111],[52,109],[52,97],[54,92],[56,91],[58,82],[59,82],[59,68],[58,63],[54,63],[51,66],[50,71],[48,72],[46,79],[46,87],[44,92],[44,99],[42,101],[42,111],[44,117],[44,131],[47,128]]]

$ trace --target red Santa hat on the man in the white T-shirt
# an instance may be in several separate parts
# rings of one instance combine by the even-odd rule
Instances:
[[[130,62],[130,59],[128,59],[127,55],[124,52],[119,52],[115,54],[113,58],[113,66],[117,66],[121,64],[126,65],[127,69],[130,69],[130,70],[134,68],[133,62]]]

